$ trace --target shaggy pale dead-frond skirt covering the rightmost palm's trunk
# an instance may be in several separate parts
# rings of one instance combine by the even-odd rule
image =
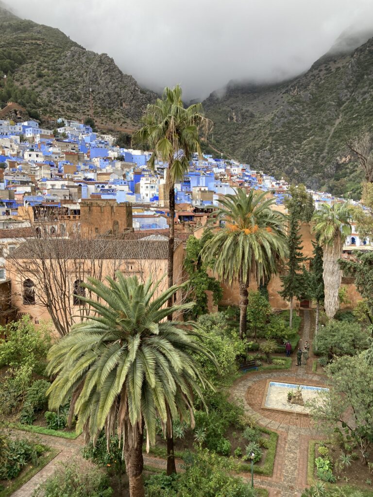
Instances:
[[[325,245],[323,255],[324,307],[329,319],[333,319],[339,309],[338,291],[342,281],[342,271],[338,259],[342,256],[342,240],[336,237],[332,245]]]

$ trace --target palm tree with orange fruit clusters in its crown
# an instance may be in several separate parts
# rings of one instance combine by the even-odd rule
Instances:
[[[212,221],[224,221],[221,230],[204,245],[201,256],[213,260],[213,269],[232,283],[238,280],[240,291],[240,336],[246,335],[248,286],[253,275],[258,284],[276,273],[278,258],[286,257],[285,216],[273,211],[274,200],[266,193],[238,188],[235,195],[219,200],[222,208],[212,213]]]

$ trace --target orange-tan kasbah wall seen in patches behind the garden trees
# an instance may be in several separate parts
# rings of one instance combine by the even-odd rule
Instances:
[[[301,243],[303,245],[303,254],[305,257],[313,256],[313,246],[312,242],[315,241],[314,235],[311,233],[310,223],[303,222],[300,225],[300,235]],[[200,236],[198,236],[200,238]],[[307,269],[309,269],[309,260],[304,262]],[[279,267],[277,275],[271,278],[267,286],[269,301],[273,309],[288,309],[289,303],[284,300],[279,292],[282,290],[280,276],[283,275],[283,268]],[[215,275],[216,277],[216,275]],[[347,303],[341,304],[341,309],[351,308],[356,306],[359,300],[362,300],[362,296],[357,291],[356,286],[353,282],[353,278],[342,278],[342,287],[347,288]],[[258,285],[255,282],[255,278],[251,278],[250,290],[257,290]],[[239,288],[238,283],[233,282],[232,286],[223,284],[223,297],[220,302],[223,306],[238,306],[239,305]],[[314,303],[304,303],[305,306],[314,307]],[[303,306],[303,304],[302,304]],[[300,307],[300,302],[295,303],[295,308]]]

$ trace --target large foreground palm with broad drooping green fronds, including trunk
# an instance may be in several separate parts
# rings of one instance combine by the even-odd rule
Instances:
[[[57,409],[71,398],[70,416],[78,416],[77,430],[86,442],[95,442],[103,428],[107,440],[117,432],[130,496],[142,497],[144,429],[149,450],[157,417],[165,433],[177,417],[193,426],[193,391],[203,401],[202,390],[212,388],[193,356],[216,361],[197,342],[194,323],[167,320],[191,307],[166,306],[180,287],[156,296],[160,282],[142,284],[119,271],[115,281],[106,280],[89,278],[85,286],[96,299],[80,298],[96,315],[73,326],[49,352],[48,372],[57,376],[48,390],[49,406]]]

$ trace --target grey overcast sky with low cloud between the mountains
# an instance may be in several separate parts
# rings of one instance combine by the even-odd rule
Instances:
[[[4,0],[114,58],[143,86],[181,83],[204,98],[230,80],[279,81],[308,69],[372,0]]]

